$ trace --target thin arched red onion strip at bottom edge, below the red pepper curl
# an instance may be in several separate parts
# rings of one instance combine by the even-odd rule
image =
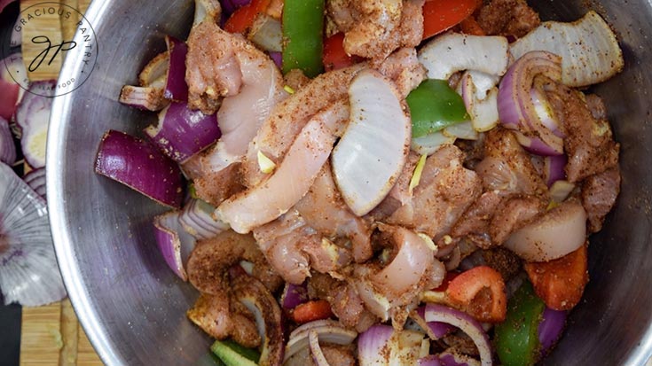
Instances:
[[[491,344],[487,333],[483,330],[481,323],[478,323],[473,317],[459,310],[444,307],[443,305],[428,304],[424,318],[427,322],[449,323],[461,331],[467,333],[467,336],[473,339],[475,347],[480,353],[480,362],[483,366],[490,366]]]

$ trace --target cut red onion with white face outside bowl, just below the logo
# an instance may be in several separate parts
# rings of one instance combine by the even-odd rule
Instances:
[[[29,92],[16,110],[16,124],[20,127],[20,147],[30,167],[45,167],[45,144],[50,124],[51,96],[57,81],[32,82]]]

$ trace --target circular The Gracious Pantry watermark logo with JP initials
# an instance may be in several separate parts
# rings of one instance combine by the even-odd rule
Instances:
[[[54,24],[60,27],[52,29]],[[30,93],[43,97],[65,95],[81,87],[95,67],[97,36],[88,19],[69,5],[51,2],[32,5],[20,12],[14,31],[23,40],[22,57],[27,74],[33,79],[57,77],[51,90],[28,89],[27,74],[10,70],[5,63],[14,82]],[[76,77],[59,74],[64,60],[74,64],[68,69],[74,70]]]

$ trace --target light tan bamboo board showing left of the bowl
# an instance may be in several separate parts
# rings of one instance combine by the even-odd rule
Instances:
[[[20,11],[43,3],[46,0],[21,0]],[[85,12],[90,0],[61,0],[61,4]],[[71,12],[78,17],[75,12]],[[59,19],[59,14],[45,15],[31,20],[35,27],[22,32],[24,59],[34,59],[42,49],[36,49],[29,42],[35,35],[48,35],[53,44],[72,39],[75,23]],[[63,58],[55,58],[51,65],[38,67],[35,73],[28,73],[32,81],[56,79]],[[20,366],[102,366],[98,354],[86,338],[75,310],[69,300],[39,308],[23,308],[20,330]]]

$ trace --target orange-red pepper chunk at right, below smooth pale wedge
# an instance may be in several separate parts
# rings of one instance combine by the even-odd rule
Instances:
[[[589,281],[586,245],[562,258],[525,264],[525,271],[537,296],[548,308],[575,308]]]

